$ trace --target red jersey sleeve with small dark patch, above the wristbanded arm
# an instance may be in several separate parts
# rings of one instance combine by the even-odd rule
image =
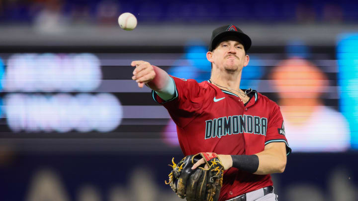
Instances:
[[[287,138],[285,136],[282,114],[278,105],[275,103],[269,115],[265,145],[271,142],[286,143],[286,153],[287,155],[291,153],[291,148],[289,147]]]

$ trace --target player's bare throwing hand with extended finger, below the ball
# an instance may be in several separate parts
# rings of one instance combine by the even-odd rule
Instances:
[[[133,61],[131,63],[133,70],[132,79],[138,83],[138,86],[142,88],[144,84],[152,81],[156,76],[156,73],[151,64],[144,61]]]

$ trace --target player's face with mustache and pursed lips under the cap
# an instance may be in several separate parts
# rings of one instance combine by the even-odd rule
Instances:
[[[210,52],[209,52],[210,53]],[[207,55],[213,66],[226,71],[240,71],[249,63],[249,56],[246,55],[244,46],[236,40],[224,40]]]

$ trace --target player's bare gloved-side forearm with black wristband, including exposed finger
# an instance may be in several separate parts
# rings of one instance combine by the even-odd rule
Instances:
[[[243,156],[243,157],[239,157],[240,159],[238,160],[240,161],[236,161],[239,163],[241,162],[240,164],[233,166],[233,164],[235,164],[235,162],[233,162],[233,157],[235,158],[235,156]],[[248,170],[248,171],[254,169],[254,171],[252,172],[253,174],[257,174],[257,175],[282,173],[286,166],[286,144],[284,142],[273,142],[267,144],[265,146],[264,151],[257,153],[255,155],[232,156],[232,155],[219,154],[219,158],[222,161],[225,170],[231,167],[239,166],[237,168]],[[192,169],[195,169],[196,167],[204,163],[205,163],[204,159],[200,159],[193,165]],[[255,163],[257,163],[258,165],[255,165]]]

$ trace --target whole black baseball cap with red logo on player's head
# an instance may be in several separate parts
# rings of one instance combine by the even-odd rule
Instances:
[[[212,52],[226,36],[236,36],[239,39],[239,42],[244,46],[245,52],[251,47],[250,37],[244,34],[244,32],[235,25],[228,24],[214,29],[211,36],[209,51]]]

